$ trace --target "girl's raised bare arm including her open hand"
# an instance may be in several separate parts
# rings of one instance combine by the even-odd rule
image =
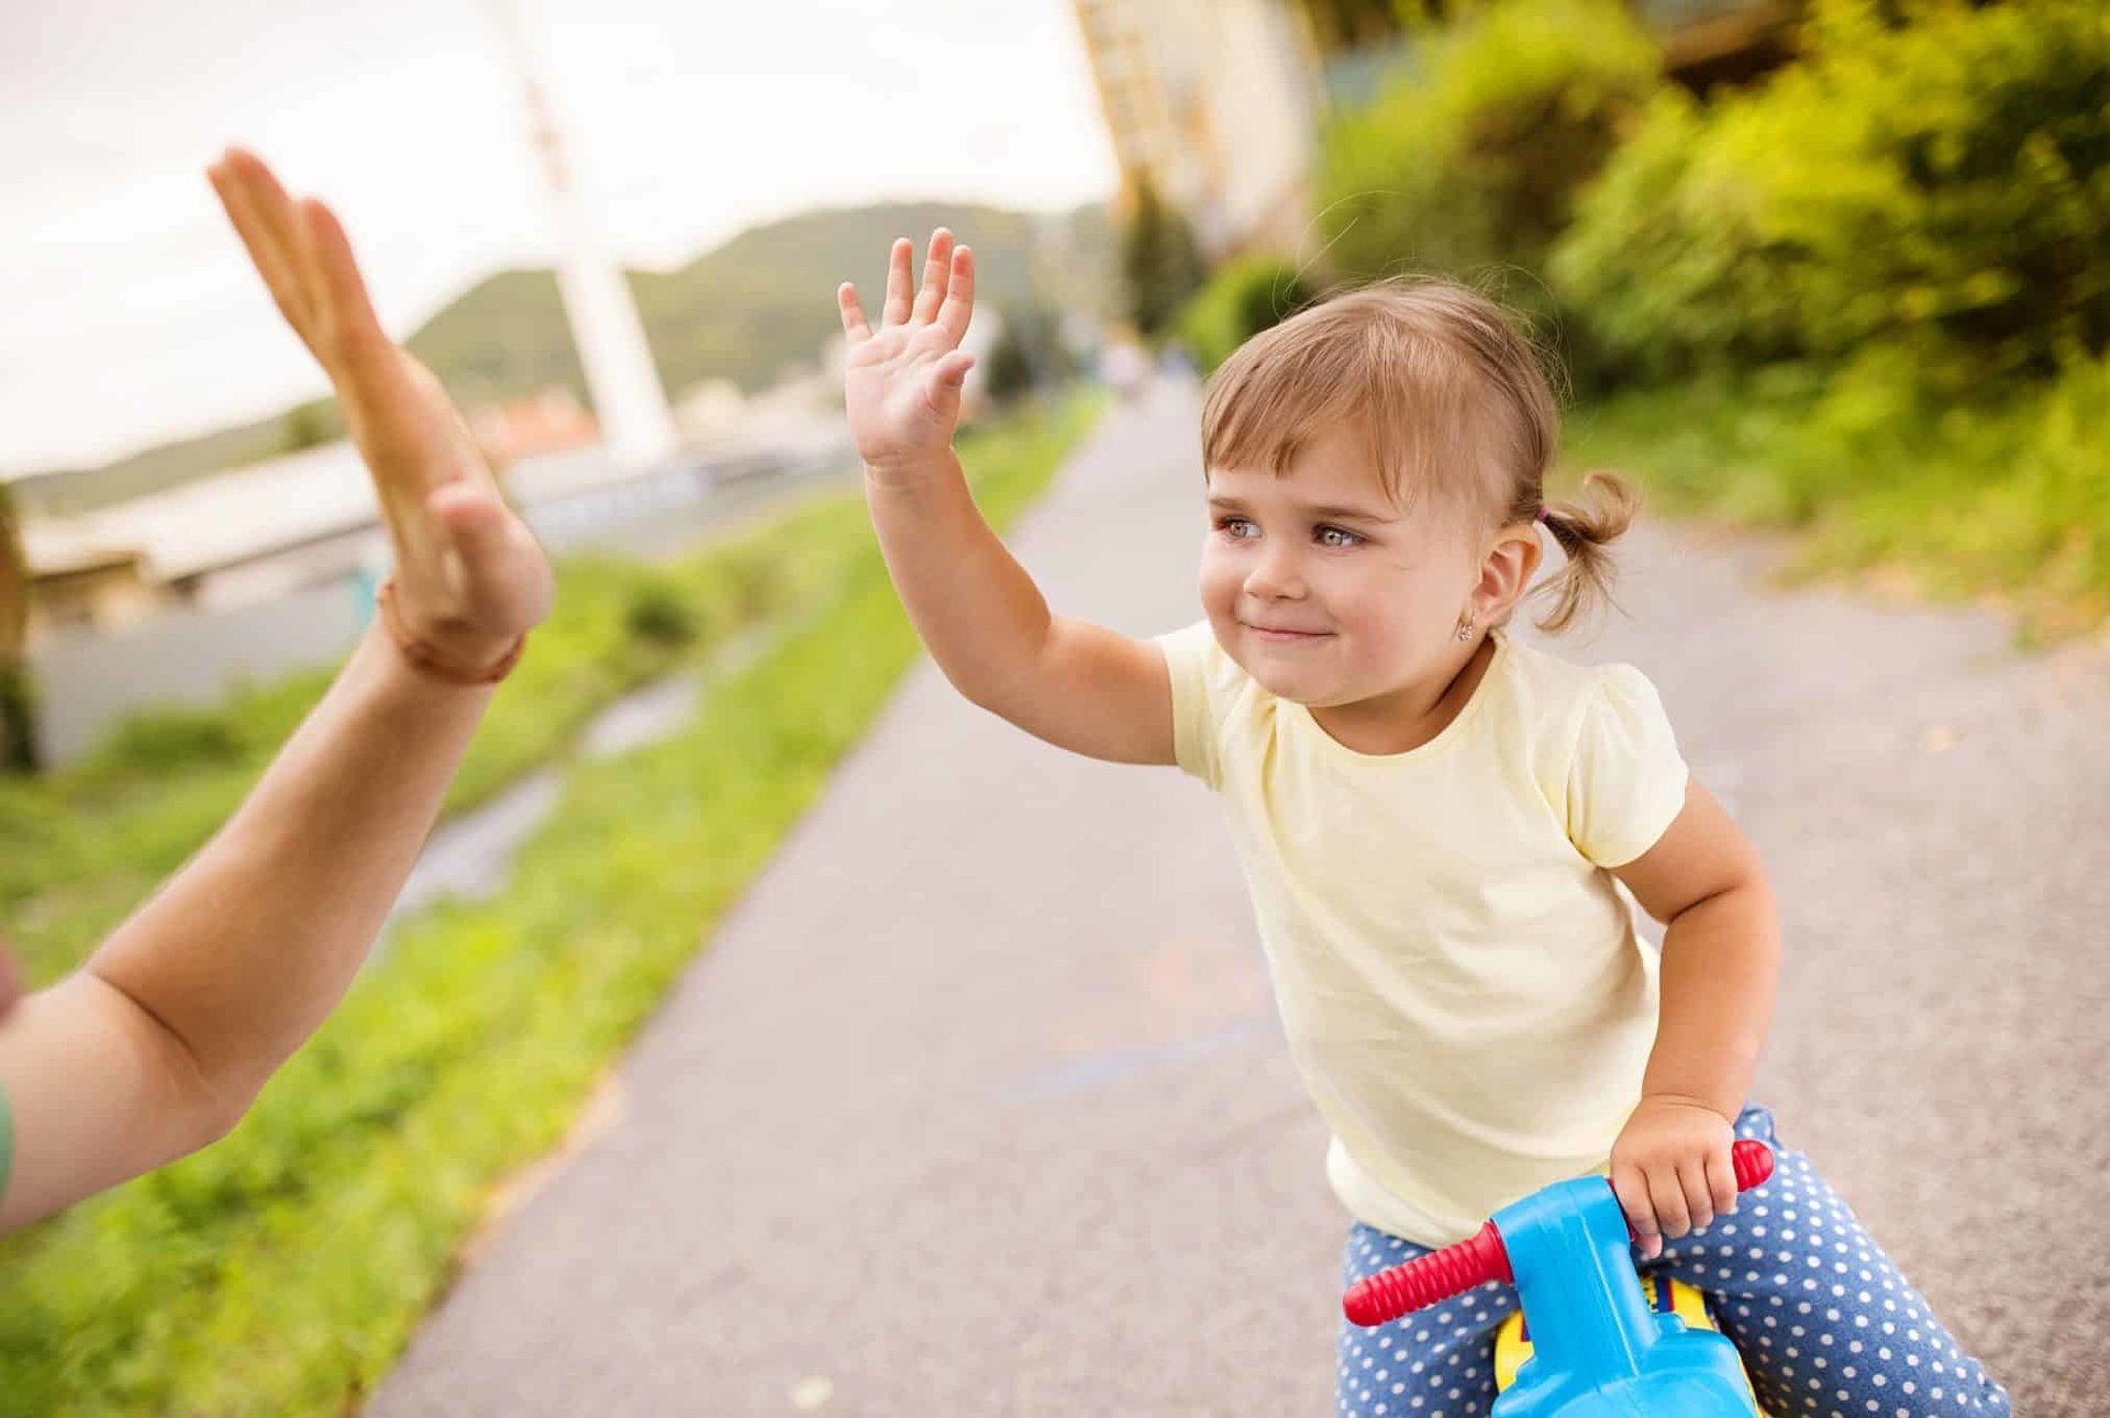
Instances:
[[[922,291],[914,247],[895,243],[880,329],[857,289],[838,293],[848,336],[850,433],[886,566],[916,633],[973,703],[1063,749],[1125,764],[1173,762],[1165,654],[1097,625],[1051,616],[1038,587],[975,511],[952,449],[975,257],[931,236]]]

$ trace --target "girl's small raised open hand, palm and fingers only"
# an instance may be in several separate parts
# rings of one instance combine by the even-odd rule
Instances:
[[[865,321],[855,285],[836,291],[848,336],[842,384],[850,437],[865,468],[884,481],[907,481],[952,447],[960,384],[975,367],[960,348],[975,314],[975,253],[954,249],[952,232],[933,232],[922,291],[912,300],[914,255],[909,241],[895,243],[878,329]]]

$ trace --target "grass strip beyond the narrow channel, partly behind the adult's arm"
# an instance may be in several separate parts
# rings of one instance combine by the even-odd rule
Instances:
[[[707,656],[726,635],[833,597],[869,542],[852,502],[840,492],[804,500],[665,566],[565,559],[557,610],[494,701],[447,810],[557,758],[620,694]],[[779,555],[787,544],[800,553]],[[198,850],[333,673],[245,688],[209,709],[146,713],[63,772],[0,777],[0,920],[34,981],[74,969]]]

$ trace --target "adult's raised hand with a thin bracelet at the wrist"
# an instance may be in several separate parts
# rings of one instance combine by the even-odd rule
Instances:
[[[555,582],[447,390],[382,329],[350,241],[323,203],[293,200],[241,148],[207,175],[279,312],[338,390],[395,544],[403,627],[458,673],[506,663],[549,614]]]

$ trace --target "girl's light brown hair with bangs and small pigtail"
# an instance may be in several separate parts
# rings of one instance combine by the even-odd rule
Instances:
[[[1517,319],[1452,281],[1405,279],[1334,295],[1247,340],[1209,382],[1201,416],[1211,468],[1281,475],[1323,428],[1363,435],[1397,504],[1433,498],[1481,525],[1547,523],[1568,566],[1532,595],[1568,629],[1610,599],[1608,551],[1639,496],[1610,473],[1582,502],[1545,502],[1559,405]]]

